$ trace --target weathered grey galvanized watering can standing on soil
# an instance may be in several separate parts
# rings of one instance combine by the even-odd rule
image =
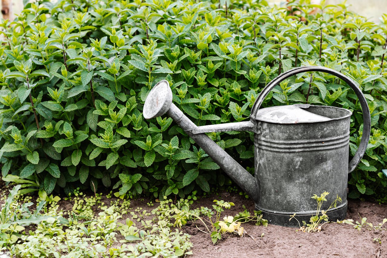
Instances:
[[[332,106],[294,104],[259,109],[269,92],[284,79],[302,72],[325,72],[346,82],[356,93],[363,111],[363,135],[353,159],[349,156],[351,111]],[[289,215],[309,221],[317,212],[313,194],[327,191],[326,210],[339,195],[342,203],[327,215],[342,220],[347,212],[348,173],[363,157],[370,137],[370,110],[354,82],[335,70],[298,67],[277,76],[260,93],[251,111],[250,121],[196,126],[172,103],[172,91],[166,80],[151,90],[144,104],[144,118],[167,113],[254,201],[255,209],[272,224],[298,226]],[[255,175],[248,173],[205,133],[225,131],[254,132]]]

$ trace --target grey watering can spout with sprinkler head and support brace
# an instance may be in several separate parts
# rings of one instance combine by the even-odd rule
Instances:
[[[183,112],[172,103],[172,91],[168,81],[156,84],[144,104],[143,115],[146,119],[168,114],[183,130],[223,169],[228,176],[245,191],[254,202],[259,200],[259,186],[256,179],[235,159],[217,145],[206,132],[245,131],[258,132],[251,121],[229,123],[221,126],[195,125]]]

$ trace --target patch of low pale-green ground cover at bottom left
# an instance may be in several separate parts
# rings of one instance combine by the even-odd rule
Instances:
[[[87,197],[75,190],[75,196],[67,198],[73,204],[70,210],[59,210],[60,198],[56,196],[57,201],[40,201],[31,212],[33,203],[26,202],[29,197],[23,200],[19,188],[20,185],[15,186],[2,205],[2,214],[7,212],[9,219],[0,225],[0,249],[12,257],[135,258],[192,254],[188,234],[173,229],[169,219],[152,218],[149,212],[139,209],[130,211],[130,200],[126,198],[113,201],[110,197],[110,203],[103,203],[101,194]]]

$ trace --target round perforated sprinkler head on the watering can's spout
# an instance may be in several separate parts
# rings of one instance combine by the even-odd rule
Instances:
[[[172,91],[168,81],[161,80],[154,85],[146,97],[142,114],[145,119],[151,119],[165,114],[172,104]]]

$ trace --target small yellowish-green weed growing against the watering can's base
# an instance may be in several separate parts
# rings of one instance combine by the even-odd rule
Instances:
[[[324,191],[324,193],[322,193],[320,196],[317,196],[317,195],[313,195],[312,196],[312,199],[315,199],[317,201],[317,212],[316,212],[316,215],[310,217],[310,224],[307,224],[305,221],[303,221],[303,224],[304,226],[301,227],[301,224],[300,224],[300,221],[298,221],[298,219],[296,219],[295,215],[296,214],[293,214],[290,216],[290,219],[295,219],[298,221],[298,225],[300,226],[300,229],[298,229],[297,231],[303,231],[303,232],[317,232],[317,231],[321,231],[321,227],[325,224],[325,223],[328,223],[328,215],[327,215],[327,212],[332,209],[332,208],[336,208],[337,206],[337,202],[342,202],[341,198],[337,195],[336,197],[336,200],[334,200],[332,202],[332,204],[329,206],[329,208],[327,210],[321,210],[321,207],[322,207],[322,203],[324,201],[327,201],[327,199],[325,198],[327,195],[329,195],[329,193],[327,191]],[[320,225],[320,223],[322,221],[325,221],[323,224]],[[306,226],[305,226],[306,225]]]

